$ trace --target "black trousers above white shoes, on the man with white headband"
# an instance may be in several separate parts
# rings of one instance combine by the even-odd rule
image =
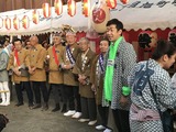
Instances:
[[[75,110],[80,112],[80,95],[79,95],[79,87],[78,86],[64,86],[66,99],[68,100],[69,110]],[[76,103],[75,103],[76,101]]]

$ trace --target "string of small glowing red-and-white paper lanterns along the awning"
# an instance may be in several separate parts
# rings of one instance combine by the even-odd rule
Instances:
[[[123,4],[127,4],[129,2],[129,0],[120,0]],[[82,14],[85,16],[89,15],[90,12],[90,0],[81,0],[82,2]],[[106,0],[107,6],[110,9],[114,9],[117,7],[117,0]],[[75,0],[68,0],[67,1],[67,7],[68,7],[68,15],[74,16],[76,14],[76,1]],[[55,13],[57,15],[61,15],[63,13],[63,1],[62,0],[55,0],[54,1],[54,8],[55,8]],[[43,9],[43,16],[44,18],[50,18],[52,15],[52,10],[51,10],[51,6],[50,3],[45,2],[42,4],[42,9]],[[40,12],[37,10],[34,10],[32,12],[32,21],[35,24],[40,23]],[[4,20],[2,18],[0,18],[0,29],[3,28],[3,22],[4,22],[4,26],[7,30],[11,29],[11,24],[12,21],[9,16],[7,16]],[[24,29],[28,29],[30,26],[30,18],[28,15],[24,15],[22,18],[22,26]],[[18,16],[15,15],[13,19],[13,28],[15,30],[20,29],[20,20],[18,19]]]

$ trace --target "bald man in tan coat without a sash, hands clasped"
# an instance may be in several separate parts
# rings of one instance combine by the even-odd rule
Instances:
[[[34,96],[35,96],[35,106],[33,109],[41,108],[41,91],[43,94],[43,109],[48,109],[48,94],[46,88],[46,73],[44,68],[44,62],[46,58],[46,50],[38,44],[37,36],[32,36],[30,38],[31,48],[30,52],[30,80],[32,81]]]

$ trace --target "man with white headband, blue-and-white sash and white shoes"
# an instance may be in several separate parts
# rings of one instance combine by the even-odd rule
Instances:
[[[68,32],[66,34],[67,46],[64,51],[64,63],[62,65],[62,68],[64,69],[64,89],[69,106],[69,110],[64,113],[64,116],[73,116],[72,118],[79,118],[81,116],[78,81],[72,73],[77,55],[80,53],[80,48],[78,47],[76,40],[76,33]]]

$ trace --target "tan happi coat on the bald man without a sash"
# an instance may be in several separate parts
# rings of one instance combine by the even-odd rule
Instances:
[[[30,75],[30,80],[32,81],[46,81],[46,73],[44,67],[44,61],[46,57],[46,50],[37,44],[30,51],[30,64],[31,67],[36,67],[33,75]]]

